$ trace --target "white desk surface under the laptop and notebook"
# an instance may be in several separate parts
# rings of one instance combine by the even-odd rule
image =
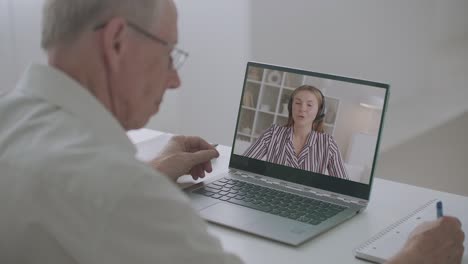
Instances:
[[[151,133],[153,136],[148,136]],[[129,136],[136,143],[138,155],[143,160],[154,157],[170,137],[150,130],[132,132]],[[218,150],[221,156],[213,162],[212,174],[228,169],[231,148],[218,146]],[[188,176],[181,181],[184,185],[193,183]],[[298,248],[214,224],[209,224],[209,231],[221,240],[227,251],[239,255],[246,263],[368,263],[354,258],[356,246],[434,198],[464,203],[468,211],[468,197],[375,178],[367,210]],[[466,227],[464,230],[468,233]],[[468,264],[466,252],[463,263]]]

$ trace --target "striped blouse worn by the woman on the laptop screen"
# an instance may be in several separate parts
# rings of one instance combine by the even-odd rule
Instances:
[[[312,131],[299,155],[293,146],[293,129],[272,125],[245,151],[244,156],[302,170],[349,179],[338,145],[332,136]],[[327,173],[328,171],[328,173]]]

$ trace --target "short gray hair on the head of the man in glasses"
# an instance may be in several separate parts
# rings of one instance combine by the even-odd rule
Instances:
[[[68,44],[85,30],[121,16],[150,26],[162,13],[163,0],[46,0],[43,7],[41,46],[48,50]]]

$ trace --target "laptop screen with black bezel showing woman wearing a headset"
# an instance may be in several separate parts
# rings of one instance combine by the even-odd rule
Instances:
[[[249,62],[230,166],[367,199],[388,90]]]

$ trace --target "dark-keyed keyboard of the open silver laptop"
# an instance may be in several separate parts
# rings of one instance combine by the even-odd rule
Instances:
[[[312,225],[318,225],[346,209],[340,205],[227,178],[212,182],[194,193]]]

